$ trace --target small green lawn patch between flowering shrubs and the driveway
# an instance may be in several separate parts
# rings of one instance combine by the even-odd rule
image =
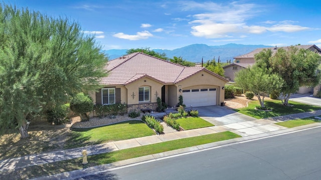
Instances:
[[[201,117],[182,117],[177,122],[185,130],[213,126],[214,124],[202,119]]]

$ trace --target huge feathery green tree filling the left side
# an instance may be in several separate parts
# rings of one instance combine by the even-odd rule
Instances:
[[[0,129],[18,128],[68,96],[98,86],[107,58],[80,25],[0,4]]]

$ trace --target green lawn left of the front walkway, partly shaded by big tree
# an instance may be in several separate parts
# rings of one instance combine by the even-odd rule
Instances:
[[[128,120],[95,128],[73,129],[65,148],[74,148],[108,141],[154,135],[155,132],[140,120]]]

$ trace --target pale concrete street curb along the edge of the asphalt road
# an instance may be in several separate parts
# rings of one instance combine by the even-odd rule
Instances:
[[[49,175],[49,176],[37,177],[37,178],[33,178],[33,179],[34,180],[36,180],[36,179],[37,180],[73,179],[73,178],[82,177],[84,175],[93,175],[93,174],[96,174],[99,172],[104,172],[104,171],[112,170],[115,168],[132,166],[132,165],[136,165],[139,163],[161,160],[161,159],[170,158],[173,156],[195,153],[195,152],[199,152],[199,151],[224,147],[224,146],[228,146],[228,145],[232,145],[232,144],[244,143],[244,142],[248,142],[248,141],[259,140],[259,139],[263,139],[263,138],[267,138],[267,137],[274,137],[274,136],[278,136],[278,135],[283,135],[283,134],[287,134],[287,133],[293,133],[293,132],[298,132],[298,131],[308,130],[308,129],[313,129],[313,128],[319,128],[319,127],[321,127],[321,122],[316,122],[316,123],[297,126],[297,127],[293,127],[293,128],[275,130],[275,131],[270,131],[270,132],[255,134],[255,135],[249,135],[249,136],[244,136],[244,137],[239,137],[239,138],[234,138],[234,139],[228,139],[228,140],[212,142],[212,143],[208,143],[208,144],[202,144],[202,145],[186,147],[186,148],[182,148],[182,149],[176,149],[176,150],[171,150],[171,151],[166,151],[166,152],[161,152],[161,153],[156,153],[156,154],[145,155],[145,156],[141,156],[141,157],[121,160],[118,162],[97,165],[97,166],[93,166],[93,167],[88,167],[88,168],[79,169],[79,170],[73,170],[73,171],[69,171],[69,172],[63,172],[63,173],[59,173],[59,174],[53,174],[53,175]]]

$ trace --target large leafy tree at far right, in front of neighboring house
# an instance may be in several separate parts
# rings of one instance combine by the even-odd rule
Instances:
[[[300,86],[314,86],[319,82],[317,67],[321,63],[321,56],[309,49],[290,46],[288,49],[277,49],[275,54],[265,49],[255,54],[254,58],[258,66],[266,65],[272,73],[277,73],[284,80],[283,86],[278,89],[284,105],[288,105],[290,95]]]

